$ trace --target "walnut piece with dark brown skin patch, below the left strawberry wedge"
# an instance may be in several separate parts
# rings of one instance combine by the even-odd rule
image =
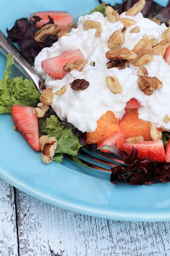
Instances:
[[[44,163],[51,163],[57,148],[57,140],[54,137],[43,135],[40,137],[41,159]]]

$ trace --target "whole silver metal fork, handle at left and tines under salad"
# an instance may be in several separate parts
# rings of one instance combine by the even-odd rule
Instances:
[[[42,86],[44,84],[44,80],[42,77],[36,73],[34,67],[32,67],[26,59],[23,57],[21,52],[12,44],[6,36],[0,31],[0,52],[3,55],[7,55],[11,52],[14,56],[14,64],[15,66],[28,78],[30,78],[37,90],[42,91]],[[79,155],[77,156],[80,160],[88,164],[88,168],[90,169],[98,169],[101,172],[111,172],[111,168],[114,166],[118,166],[123,164],[127,166],[119,157],[115,154],[103,153],[96,149],[96,145],[93,145],[91,149],[83,146],[80,149]],[[66,157],[69,161],[72,161],[68,157]],[[76,163],[76,162],[74,162]],[[79,163],[76,163],[79,164]],[[79,164],[80,165],[80,164]]]

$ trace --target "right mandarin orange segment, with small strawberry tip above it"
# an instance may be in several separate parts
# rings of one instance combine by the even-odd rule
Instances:
[[[149,125],[150,122],[139,119],[137,109],[127,111],[119,122],[120,131],[126,138],[142,135],[145,141],[152,140]]]

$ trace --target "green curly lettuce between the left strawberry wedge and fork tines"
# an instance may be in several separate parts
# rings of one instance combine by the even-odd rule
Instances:
[[[82,144],[79,143],[79,138],[73,133],[72,127],[61,125],[57,116],[51,115],[47,119],[39,119],[39,133],[55,137],[57,139],[57,149],[53,160],[59,163],[62,162],[63,154],[68,154],[73,157],[78,155],[79,148]]]

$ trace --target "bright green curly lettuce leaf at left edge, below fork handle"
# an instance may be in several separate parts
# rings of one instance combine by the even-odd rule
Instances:
[[[22,76],[9,79],[13,64],[14,57],[9,53],[3,79],[0,80],[0,113],[11,113],[13,105],[34,107],[40,97],[31,80],[23,80]]]

